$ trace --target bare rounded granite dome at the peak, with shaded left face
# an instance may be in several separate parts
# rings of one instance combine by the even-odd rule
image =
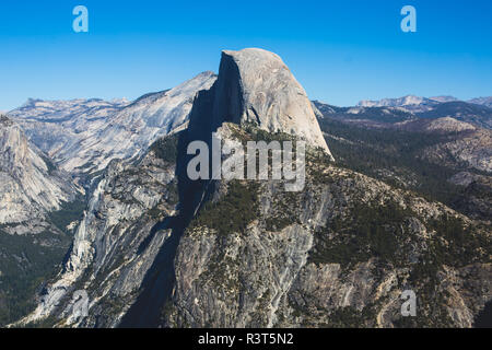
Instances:
[[[222,52],[213,120],[215,126],[255,122],[298,136],[331,155],[306,92],[279,56],[262,49]]]

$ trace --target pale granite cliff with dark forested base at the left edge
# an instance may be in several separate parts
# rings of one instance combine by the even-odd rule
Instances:
[[[0,116],[0,327],[17,319],[63,259],[83,190]]]

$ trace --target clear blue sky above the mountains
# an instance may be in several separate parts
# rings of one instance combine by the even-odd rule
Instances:
[[[83,4],[90,32],[72,31]],[[418,32],[400,31],[417,9]],[[492,95],[492,1],[0,2],[0,109],[28,97],[136,98],[218,71],[222,49],[279,54],[311,98]]]

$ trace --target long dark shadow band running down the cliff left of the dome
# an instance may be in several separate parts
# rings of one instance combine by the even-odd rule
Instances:
[[[149,237],[141,243],[139,253],[145,250],[155,234],[159,234],[162,230],[172,230],[171,236],[161,247],[152,267],[143,279],[140,295],[121,319],[118,326],[120,328],[150,328],[166,325],[166,320],[162,319],[162,311],[173,296],[176,281],[174,260],[180,237],[195,212],[203,200],[207,200],[213,187],[210,186],[209,180],[190,180],[188,178],[187,164],[195,155],[188,155],[186,152],[189,142],[192,140],[209,142],[211,138],[213,91],[212,88],[209,91],[198,93],[190,113],[189,128],[179,135],[176,159],[179,214],[155,224]]]

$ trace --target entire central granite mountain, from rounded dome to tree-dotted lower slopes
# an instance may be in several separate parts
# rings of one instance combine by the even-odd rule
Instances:
[[[177,98],[178,122],[166,114],[157,118],[168,126],[159,139],[132,143],[141,158],[108,162],[63,268],[17,325],[473,325],[492,300],[487,228],[333,164],[304,89],[279,56],[223,51],[219,75],[204,78]],[[137,130],[149,105],[169,94],[148,95],[117,115]],[[306,140],[306,186],[286,192],[283,180],[187,178],[187,145],[213,131],[242,142]],[[409,288],[419,295],[415,319],[400,314]],[[86,317],[73,314],[78,290],[90,300]]]

